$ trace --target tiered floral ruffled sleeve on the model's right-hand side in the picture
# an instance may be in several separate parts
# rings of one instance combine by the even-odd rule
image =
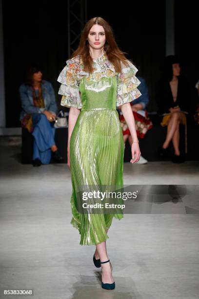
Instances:
[[[135,76],[138,69],[128,60],[128,66],[122,64],[118,75],[118,90],[116,106],[132,102],[141,95],[138,85],[141,83]]]

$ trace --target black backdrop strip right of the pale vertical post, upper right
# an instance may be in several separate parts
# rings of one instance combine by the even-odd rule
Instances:
[[[194,3],[187,5],[183,1],[175,1],[175,49],[181,61],[181,71],[191,86],[187,101],[192,109],[199,102],[195,87],[199,80],[199,9]]]

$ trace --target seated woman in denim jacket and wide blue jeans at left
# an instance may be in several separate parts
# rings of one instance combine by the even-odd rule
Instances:
[[[52,153],[56,162],[63,162],[54,140],[57,105],[52,84],[42,80],[39,67],[31,66],[27,71],[27,81],[20,85],[19,92],[21,127],[27,128],[34,136],[33,166],[49,164]]]

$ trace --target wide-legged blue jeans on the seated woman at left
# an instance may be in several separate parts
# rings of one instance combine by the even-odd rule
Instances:
[[[55,144],[55,128],[43,113],[33,113],[33,160],[40,159],[42,164],[49,164],[51,147]]]

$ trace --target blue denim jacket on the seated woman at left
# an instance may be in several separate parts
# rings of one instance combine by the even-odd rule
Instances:
[[[19,88],[22,110],[20,120],[25,114],[42,113],[44,109],[57,113],[58,108],[55,100],[55,92],[50,82],[43,80],[41,93],[44,100],[44,108],[35,107],[33,104],[32,88],[29,85],[21,84]]]

